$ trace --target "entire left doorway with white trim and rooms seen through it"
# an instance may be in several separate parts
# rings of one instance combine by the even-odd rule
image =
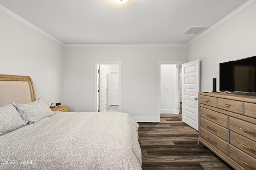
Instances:
[[[95,62],[95,110],[121,112],[121,62]]]

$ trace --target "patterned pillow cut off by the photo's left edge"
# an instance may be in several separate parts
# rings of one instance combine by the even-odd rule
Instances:
[[[21,118],[20,113],[12,104],[0,107],[0,136],[26,126],[26,124],[27,122]]]

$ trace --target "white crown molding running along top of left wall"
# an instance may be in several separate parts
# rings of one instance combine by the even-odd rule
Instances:
[[[22,18],[21,16],[15,14],[14,12],[12,12],[11,10],[9,10],[8,8],[2,6],[0,4],[0,12],[2,12],[3,14],[6,14],[7,16],[9,16],[10,18],[13,18],[14,20],[22,23],[23,25],[26,25],[27,27],[29,27],[30,29],[33,29],[34,31],[40,33],[41,35],[45,36],[46,38],[54,41],[55,43],[61,45],[64,47],[64,43],[58,39],[56,39],[55,37],[53,37],[52,35],[50,35],[49,33],[45,32],[44,30],[40,29],[39,27],[37,27],[36,25],[30,23],[29,21],[25,20],[24,18]]]

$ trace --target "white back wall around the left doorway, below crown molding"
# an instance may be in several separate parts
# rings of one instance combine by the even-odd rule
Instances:
[[[65,48],[65,103],[70,111],[95,111],[95,62],[120,61],[122,112],[137,121],[157,121],[158,61],[186,61],[186,55],[186,47]]]

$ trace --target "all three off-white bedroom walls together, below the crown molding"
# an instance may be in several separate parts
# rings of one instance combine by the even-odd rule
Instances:
[[[158,116],[158,61],[201,61],[201,91],[212,91],[219,63],[256,55],[256,5],[189,47],[62,47],[0,13],[0,74],[31,76],[36,97],[95,111],[95,62],[122,63],[122,111],[139,121]],[[187,58],[188,57],[188,58]],[[64,100],[63,100],[64,98]],[[144,109],[144,114],[141,114]]]

